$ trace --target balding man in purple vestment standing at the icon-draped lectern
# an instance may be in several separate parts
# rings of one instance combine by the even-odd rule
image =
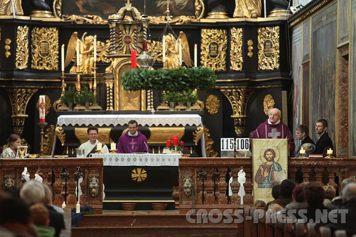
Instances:
[[[288,138],[289,154],[293,155],[295,143],[288,126],[280,121],[280,110],[273,108],[268,110],[268,119],[261,123],[252,134],[251,138]]]

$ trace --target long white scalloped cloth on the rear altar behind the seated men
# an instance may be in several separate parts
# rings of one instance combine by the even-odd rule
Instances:
[[[141,126],[152,125],[202,125],[202,119],[199,115],[61,115],[57,118],[57,126],[63,125],[126,125],[127,122],[134,119]]]

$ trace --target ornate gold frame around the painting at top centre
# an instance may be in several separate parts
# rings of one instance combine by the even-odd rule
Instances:
[[[62,15],[62,0],[53,0],[53,15],[61,18],[64,21],[70,21],[77,24],[108,24],[106,19],[102,19],[97,15]],[[187,24],[189,22],[198,22],[204,17],[205,5],[204,0],[195,0],[195,15],[194,16],[178,16],[173,18],[170,16],[171,24]],[[167,16],[150,16],[148,17],[151,24],[163,24],[167,22]]]

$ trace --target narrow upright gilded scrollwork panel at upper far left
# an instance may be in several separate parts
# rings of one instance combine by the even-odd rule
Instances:
[[[16,61],[17,69],[26,69],[28,63],[28,26],[18,26],[16,32]]]

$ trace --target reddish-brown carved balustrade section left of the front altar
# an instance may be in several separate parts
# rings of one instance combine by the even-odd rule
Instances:
[[[75,180],[77,167],[83,172],[83,182],[80,184],[82,195],[81,205],[90,205],[96,213],[102,213],[102,158],[24,158],[24,159],[0,159],[0,190],[4,186],[16,185],[21,188],[26,182],[22,179],[24,167],[27,167],[30,178],[35,178],[37,172],[44,184],[53,182],[55,192],[54,204],[62,205],[65,197],[65,176],[63,168],[66,167],[67,178],[67,207],[75,207],[77,203]],[[52,179],[52,174],[54,178]],[[61,175],[62,174],[62,175]]]

